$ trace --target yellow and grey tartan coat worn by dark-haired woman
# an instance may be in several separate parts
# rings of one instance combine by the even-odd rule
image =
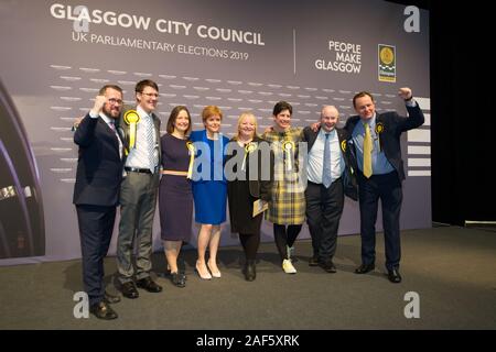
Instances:
[[[304,142],[301,128],[290,128],[283,133],[263,133],[274,155],[274,180],[271,188],[268,221],[278,224],[302,224],[305,221],[306,172],[300,156],[299,143]]]

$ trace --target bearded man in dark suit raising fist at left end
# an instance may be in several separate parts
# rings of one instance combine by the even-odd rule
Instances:
[[[120,300],[105,290],[104,257],[112,237],[122,178],[122,143],[114,125],[121,107],[122,90],[104,86],[74,133],[79,155],[73,202],[79,224],[84,287],[90,311],[107,320],[117,318],[108,304]]]

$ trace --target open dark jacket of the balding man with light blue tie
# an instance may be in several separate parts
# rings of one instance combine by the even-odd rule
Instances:
[[[303,135],[305,141],[309,143],[309,153],[313,147],[313,144],[315,143],[315,140],[319,135],[321,128],[319,128],[317,132],[313,132],[313,130],[310,127],[306,127],[303,129]],[[352,198],[353,200],[358,199],[358,189],[357,189],[357,183],[356,183],[356,175],[354,169],[354,163],[352,161],[353,155],[351,154],[351,150],[348,147],[348,133],[345,130],[337,129],[337,139],[339,140],[339,150],[342,152],[344,162],[345,162],[345,169],[343,172],[343,185],[344,185],[344,193],[347,197]]]

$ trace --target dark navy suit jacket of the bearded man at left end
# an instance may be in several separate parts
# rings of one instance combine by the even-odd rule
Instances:
[[[73,204],[117,206],[122,179],[122,161],[116,133],[100,118],[87,114],[76,132],[79,145]]]

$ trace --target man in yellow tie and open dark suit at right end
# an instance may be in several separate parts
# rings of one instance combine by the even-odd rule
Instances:
[[[362,91],[353,98],[358,116],[346,121],[349,143],[357,168],[360,206],[362,265],[356,274],[375,268],[376,220],[380,199],[386,248],[386,268],[391,283],[400,283],[400,210],[402,200],[401,182],[405,179],[400,136],[408,130],[423,124],[424,117],[412,99],[410,88],[400,88],[399,97],[406,101],[409,118],[390,111],[376,113],[374,98]]]

